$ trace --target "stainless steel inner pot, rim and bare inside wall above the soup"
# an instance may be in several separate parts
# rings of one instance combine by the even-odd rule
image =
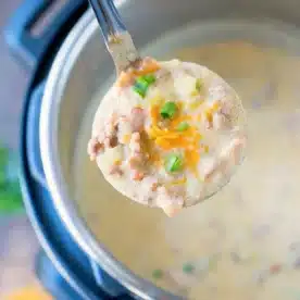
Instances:
[[[275,20],[300,26],[300,2],[295,0],[124,0],[118,5],[138,48],[199,20]],[[222,28],[212,37],[224,38],[230,34]],[[88,11],[70,33],[48,77],[40,117],[42,163],[61,218],[84,251],[138,297],[170,299],[175,296],[135,276],[96,240],[73,199],[73,155],[80,121],[99,86],[113,73],[98,24]]]

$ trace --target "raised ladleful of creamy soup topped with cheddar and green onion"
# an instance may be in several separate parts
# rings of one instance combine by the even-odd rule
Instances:
[[[218,191],[241,162],[242,105],[205,66],[146,58],[99,103],[91,160],[120,192],[170,216]]]

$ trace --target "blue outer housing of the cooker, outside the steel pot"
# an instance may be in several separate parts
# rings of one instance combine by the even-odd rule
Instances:
[[[134,299],[74,240],[54,209],[45,179],[38,135],[45,82],[59,47],[87,11],[87,1],[68,1],[52,13],[51,24],[41,36],[32,36],[32,26],[50,4],[53,3],[43,0],[24,1],[5,28],[12,54],[32,73],[21,124],[20,180],[27,214],[42,247],[36,259],[36,273],[55,299]]]

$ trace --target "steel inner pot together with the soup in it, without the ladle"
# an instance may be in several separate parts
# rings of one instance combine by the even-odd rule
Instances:
[[[93,112],[115,78],[88,11],[59,50],[41,104],[42,166],[61,220],[92,260],[141,299],[295,299],[300,3],[117,5],[142,55],[207,65],[237,90],[249,118],[247,158],[218,195],[173,218],[113,190],[86,152]]]

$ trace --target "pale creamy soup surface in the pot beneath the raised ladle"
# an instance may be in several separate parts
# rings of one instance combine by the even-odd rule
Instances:
[[[103,86],[75,153],[78,205],[120,261],[175,295],[300,299],[300,39],[288,27],[226,24],[192,25],[145,52],[208,65],[240,95],[248,153],[232,182],[173,218],[122,197],[86,154]]]

